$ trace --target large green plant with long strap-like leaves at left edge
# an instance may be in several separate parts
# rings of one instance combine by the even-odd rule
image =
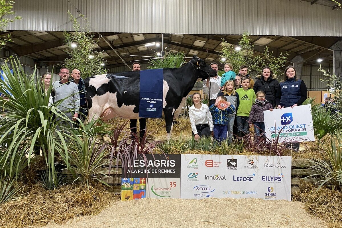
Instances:
[[[34,71],[26,75],[17,59],[10,59],[10,68],[3,64],[3,79],[0,79],[0,172],[17,177],[19,172],[32,162],[35,148],[42,148],[48,166],[48,178],[55,184],[55,155],[64,151],[67,155],[65,138],[67,132],[57,130],[60,121],[70,121],[58,112],[55,104],[49,106],[51,86],[47,94],[41,83],[35,84]],[[61,101],[60,101],[61,102]]]

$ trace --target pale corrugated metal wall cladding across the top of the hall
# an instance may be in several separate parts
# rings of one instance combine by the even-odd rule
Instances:
[[[73,31],[76,9],[99,32],[342,36],[342,10],[300,0],[20,0],[8,30]]]

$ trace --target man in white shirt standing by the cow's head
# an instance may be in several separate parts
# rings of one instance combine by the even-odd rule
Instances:
[[[219,65],[217,63],[211,63],[210,67],[216,71],[219,70]],[[219,94],[220,89],[221,89],[220,85],[221,85],[221,77],[219,75],[216,75],[215,77],[211,77],[210,84],[209,84],[208,79],[203,81],[203,93],[208,94],[208,97],[209,97],[209,88],[210,88],[209,106],[215,103],[217,95]]]

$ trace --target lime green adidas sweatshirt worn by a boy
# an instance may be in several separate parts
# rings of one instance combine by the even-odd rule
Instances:
[[[239,94],[240,105],[237,109],[236,116],[249,116],[249,112],[252,109],[252,105],[255,101],[255,92],[253,89],[244,90],[242,88],[237,89],[236,93]]]

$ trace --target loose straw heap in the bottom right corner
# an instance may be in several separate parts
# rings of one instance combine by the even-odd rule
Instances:
[[[293,200],[305,203],[306,210],[330,223],[342,227],[342,192],[321,187],[301,180]]]

